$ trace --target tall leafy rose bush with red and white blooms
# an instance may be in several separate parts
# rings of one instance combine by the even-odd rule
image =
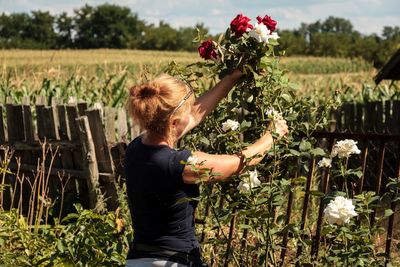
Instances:
[[[218,78],[237,68],[244,73],[236,88],[220,103],[213,115],[182,140],[192,150],[234,154],[258,139],[266,129],[271,129],[274,120],[287,120],[290,129],[289,135],[278,141],[257,166],[257,173],[254,168],[245,167],[242,174],[224,183],[202,186],[200,206],[205,207],[200,211],[210,212],[198,215],[206,222],[202,245],[204,255],[218,266],[225,262],[232,262],[236,266],[282,266],[296,263],[335,266],[345,255],[350,255],[348,244],[353,244],[353,258],[347,263],[355,260],[364,264],[382,262],[382,258],[370,259],[374,253],[370,244],[373,243],[374,233],[378,231],[378,228],[367,228],[368,224],[364,220],[366,212],[370,210],[366,206],[370,195],[351,196],[346,195],[347,188],[344,188],[344,192],[338,190],[349,177],[357,178],[359,172],[347,170],[346,162],[343,161],[346,158],[333,156],[357,153],[355,144],[348,141],[339,143],[336,146],[337,154],[331,157],[323,149],[314,147],[316,140],[312,133],[326,127],[330,111],[340,102],[335,96],[298,97],[297,85],[289,81],[286,71],[280,67],[282,54],[275,53],[279,40],[274,32],[277,23],[269,16],[259,17],[257,21],[257,25],[251,25],[250,19],[242,14],[234,18],[225,34],[212,41],[218,60],[204,60],[184,67],[172,64],[168,69],[171,74],[179,75],[197,90],[204,86],[204,79],[215,83]],[[199,35],[196,41],[203,43],[203,39]],[[349,207],[347,213],[340,210],[339,206],[335,206],[335,210],[333,203],[336,202],[332,202],[328,209],[331,212],[327,211],[327,216],[330,214],[333,217],[334,211],[337,211],[340,215],[338,218],[347,223],[324,223],[321,235],[327,245],[320,250],[318,260],[311,255],[312,240],[304,238],[314,235],[315,213],[307,215],[310,226],[304,230],[300,230],[301,221],[298,219],[301,217],[299,213],[306,194],[306,179],[302,175],[309,171],[309,161],[313,157],[326,158],[319,164],[324,167],[320,171],[331,172],[335,186],[332,192],[325,195],[319,192],[320,184],[316,182],[313,184],[314,194],[318,198],[323,197],[325,202],[338,195],[352,198],[355,202],[354,210],[349,205],[345,206]],[[337,169],[339,172],[336,173]],[[205,175],[218,174],[207,170]],[[318,181],[322,180],[320,177]],[[343,180],[344,183],[339,183]],[[287,223],[287,206],[291,194],[295,198],[295,219]],[[318,210],[315,203],[312,201],[310,204],[313,211]],[[344,214],[350,216],[355,212],[359,216],[350,221],[344,217]],[[359,222],[362,228],[357,226]],[[347,238],[349,229],[358,233],[351,241]],[[291,247],[288,248],[292,255],[296,255],[294,250],[297,247],[304,249],[300,255],[282,263],[277,250],[281,249],[285,233],[292,236]],[[367,248],[360,245],[363,240],[369,244]],[[332,247],[335,249],[332,250]],[[360,257],[357,253],[365,254]]]

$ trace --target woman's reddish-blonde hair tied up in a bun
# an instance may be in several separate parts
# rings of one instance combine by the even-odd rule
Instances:
[[[184,82],[161,74],[129,90],[128,113],[142,130],[170,138],[172,118],[181,116],[193,104],[193,97],[190,97],[175,110],[188,91],[188,85]]]

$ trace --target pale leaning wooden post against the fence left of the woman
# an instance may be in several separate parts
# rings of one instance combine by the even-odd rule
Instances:
[[[91,209],[105,210],[104,199],[99,186],[99,169],[97,167],[96,153],[93,144],[87,116],[77,118],[79,137],[82,146],[82,160],[84,170],[87,172],[87,184],[89,189],[89,205]]]

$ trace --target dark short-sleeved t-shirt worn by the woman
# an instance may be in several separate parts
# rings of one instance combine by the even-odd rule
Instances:
[[[197,185],[183,182],[190,151],[166,145],[150,146],[135,138],[126,150],[125,172],[134,243],[190,252],[199,246],[195,237]]]

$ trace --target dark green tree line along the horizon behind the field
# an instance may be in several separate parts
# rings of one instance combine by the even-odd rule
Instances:
[[[161,21],[146,23],[128,7],[85,5],[72,15],[48,11],[0,15],[0,48],[89,49],[128,48],[195,51],[193,38],[200,30],[212,36],[204,24],[175,29]],[[328,17],[302,23],[293,30],[280,30],[280,49],[288,55],[362,57],[380,66],[400,43],[400,28],[385,26],[382,35],[363,35],[347,19]]]

